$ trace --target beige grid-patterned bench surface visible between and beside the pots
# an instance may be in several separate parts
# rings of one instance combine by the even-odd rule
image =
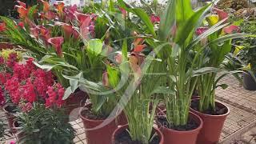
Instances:
[[[232,76],[223,78],[220,83],[226,83],[229,87],[226,90],[218,88],[216,90],[217,99],[230,107],[230,115],[222,130],[220,143],[231,144],[241,141],[242,134],[256,126],[256,91],[244,90]],[[6,119],[2,111],[0,111],[0,118]],[[79,118],[70,123],[77,132],[74,142],[86,144],[82,120]],[[6,137],[6,139],[6,142],[10,142],[15,140],[15,136]]]

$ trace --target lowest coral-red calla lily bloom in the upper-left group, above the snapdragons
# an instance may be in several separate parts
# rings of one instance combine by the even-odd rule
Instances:
[[[64,42],[63,37],[49,38],[47,40],[52,46],[54,46],[58,56],[62,57],[62,43]]]

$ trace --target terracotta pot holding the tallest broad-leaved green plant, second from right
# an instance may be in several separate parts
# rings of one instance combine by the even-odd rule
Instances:
[[[190,118],[192,118],[194,122],[199,125],[198,128],[188,131],[179,131],[168,129],[165,126],[161,127],[161,131],[165,139],[165,144],[196,144],[198,134],[202,129],[202,119],[198,117],[198,115],[191,112]]]

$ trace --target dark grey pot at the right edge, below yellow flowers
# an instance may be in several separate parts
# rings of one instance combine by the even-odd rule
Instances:
[[[256,90],[256,82],[249,73],[242,74],[242,85],[246,90]]]

